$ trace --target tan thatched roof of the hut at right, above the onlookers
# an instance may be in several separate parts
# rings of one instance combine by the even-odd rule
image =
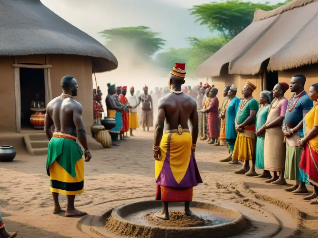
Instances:
[[[253,27],[254,34],[259,31],[257,37],[251,37],[247,29],[263,22],[267,27]],[[198,68],[198,76],[219,76],[217,71],[225,63],[229,63],[230,74],[243,75],[257,74],[267,59],[268,70],[318,63],[317,26],[318,0],[294,0],[271,11],[258,9],[253,22],[238,35],[241,39],[250,37],[249,44],[244,40],[240,44],[236,36]]]

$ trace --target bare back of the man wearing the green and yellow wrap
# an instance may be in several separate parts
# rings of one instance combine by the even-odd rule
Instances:
[[[58,96],[47,104],[46,113],[49,113],[54,124],[55,131],[77,137],[77,129],[73,116],[82,114],[82,105],[74,99]]]

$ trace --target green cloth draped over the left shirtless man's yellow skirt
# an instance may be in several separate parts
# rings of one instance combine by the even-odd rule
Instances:
[[[83,151],[76,141],[52,137],[49,142],[46,160],[47,175],[50,176],[49,167],[56,161],[69,175],[75,178],[75,164],[82,156]]]

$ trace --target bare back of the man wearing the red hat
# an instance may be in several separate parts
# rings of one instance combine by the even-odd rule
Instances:
[[[182,128],[187,129],[188,121],[196,110],[196,101],[188,94],[168,93],[158,101],[158,108],[164,109],[167,121],[167,129],[177,129],[180,124]]]

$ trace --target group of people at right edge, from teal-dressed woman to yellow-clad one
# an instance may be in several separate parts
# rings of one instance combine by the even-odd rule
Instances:
[[[318,83],[307,95],[305,82],[305,76],[296,75],[290,85],[278,83],[272,92],[260,93],[255,156],[256,167],[264,171],[257,177],[274,185],[286,184],[285,178],[295,180],[296,185],[285,189],[295,194],[307,194],[310,183],[314,191],[303,199],[318,204]],[[288,101],[284,94],[289,88],[294,95]]]

